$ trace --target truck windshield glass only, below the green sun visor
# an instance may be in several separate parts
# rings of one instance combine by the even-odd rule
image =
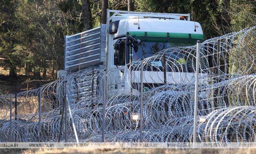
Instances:
[[[133,65],[138,63],[140,58],[147,58],[153,56],[155,53],[158,53],[164,49],[173,48],[173,47],[187,47],[196,45],[196,42],[141,42],[139,45],[138,51],[135,52],[133,48],[130,58],[132,58]],[[169,72],[194,72],[195,58],[192,58],[191,55],[188,58],[186,53],[182,51],[175,51],[175,49],[169,49],[166,51],[168,61],[167,71]],[[206,66],[206,60],[201,59],[202,66]],[[159,71],[163,68],[164,64],[162,60],[157,58],[152,58],[148,61],[147,68],[148,71]]]

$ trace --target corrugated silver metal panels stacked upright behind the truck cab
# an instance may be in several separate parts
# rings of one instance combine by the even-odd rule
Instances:
[[[106,59],[106,25],[65,36],[65,70],[98,66]]]

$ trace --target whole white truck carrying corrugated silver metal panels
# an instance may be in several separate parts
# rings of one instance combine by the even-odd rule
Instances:
[[[66,36],[65,70],[59,71],[58,76],[91,66],[112,68],[112,74],[116,76],[107,78],[109,93],[129,91],[131,86],[125,77],[129,75],[120,68],[129,67],[140,58],[150,57],[162,49],[196,45],[197,40],[204,41],[203,31],[198,22],[190,21],[190,14],[107,10],[107,24]],[[186,63],[181,56],[174,57]],[[163,61],[152,62],[152,65],[161,67]],[[139,70],[133,75],[140,76]],[[167,70],[164,75],[163,71],[144,70],[143,76],[145,90],[164,83],[194,82],[193,71]],[[207,77],[207,74],[201,73],[201,76]],[[133,82],[139,83],[140,80]]]

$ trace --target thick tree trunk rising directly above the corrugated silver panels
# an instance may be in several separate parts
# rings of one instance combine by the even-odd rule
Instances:
[[[90,0],[81,0],[83,10],[84,30],[92,29],[92,14]]]

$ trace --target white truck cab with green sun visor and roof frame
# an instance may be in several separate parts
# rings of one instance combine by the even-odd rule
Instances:
[[[114,12],[107,23],[106,68],[115,68],[111,69],[112,75],[107,79],[110,94],[138,87],[140,71],[135,67],[141,58],[146,60],[143,65],[145,91],[163,84],[194,83],[195,70],[191,66],[194,62],[191,61],[195,58],[176,52],[175,47],[194,46],[198,40],[204,41],[198,22],[189,21],[189,14],[121,12],[118,15]],[[159,58],[161,52],[165,57]],[[158,57],[152,58],[157,54]],[[166,56],[169,61],[164,62]],[[183,65],[186,69],[179,69]],[[207,77],[207,74],[201,73],[201,76]],[[205,81],[201,80],[201,84]]]

